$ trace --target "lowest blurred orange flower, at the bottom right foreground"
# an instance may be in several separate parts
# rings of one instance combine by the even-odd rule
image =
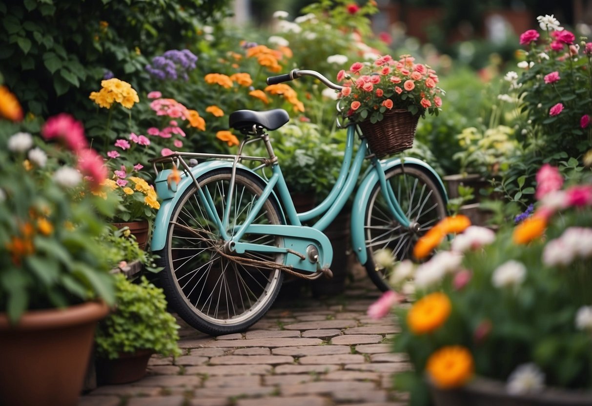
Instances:
[[[462,346],[442,347],[427,359],[426,370],[433,383],[442,389],[458,388],[473,375],[473,357]]]

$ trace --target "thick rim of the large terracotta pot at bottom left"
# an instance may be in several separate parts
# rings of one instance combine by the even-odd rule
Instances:
[[[40,330],[76,326],[84,322],[94,323],[104,318],[109,310],[109,306],[104,301],[84,302],[66,308],[28,310],[22,314],[16,324],[10,323],[7,314],[0,313],[0,329]]]

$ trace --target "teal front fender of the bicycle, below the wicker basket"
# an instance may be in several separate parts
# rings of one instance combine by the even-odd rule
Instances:
[[[388,169],[391,169],[395,166],[420,166],[424,169],[429,170],[429,172],[433,175],[434,179],[437,181],[437,185],[440,186],[442,189],[442,194],[445,197],[446,202],[448,202],[448,195],[446,194],[446,188],[444,186],[444,182],[440,179],[440,176],[436,173],[433,167],[427,165],[427,163],[423,162],[420,159],[413,158],[413,157],[406,157],[406,158],[391,158],[385,159],[380,161],[382,170],[385,172]],[[364,236],[364,220],[366,215],[366,207],[368,206],[368,202],[370,199],[370,194],[372,193],[372,189],[374,189],[374,185],[379,181],[378,174],[375,169],[370,169],[365,177],[362,179],[358,191],[356,192],[356,196],[353,199],[353,207],[352,207],[352,247],[353,252],[356,253],[359,262],[362,265],[365,265],[366,261],[368,260],[368,252],[366,251],[366,243],[365,243],[365,236]]]

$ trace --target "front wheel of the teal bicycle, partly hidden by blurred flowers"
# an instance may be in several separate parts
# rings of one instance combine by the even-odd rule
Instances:
[[[385,201],[380,183],[372,189],[364,222],[364,234],[368,260],[366,272],[381,289],[390,289],[390,272],[377,266],[374,253],[380,249],[390,250],[395,262],[412,259],[413,247],[438,221],[446,217],[446,199],[442,188],[428,170],[421,166],[394,166],[385,172],[392,191],[410,221],[410,227],[404,227],[392,216]]]

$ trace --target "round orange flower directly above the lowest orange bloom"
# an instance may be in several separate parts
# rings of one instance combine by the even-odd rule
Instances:
[[[434,292],[419,299],[407,313],[407,326],[415,334],[430,333],[448,319],[452,305],[448,296]]]

